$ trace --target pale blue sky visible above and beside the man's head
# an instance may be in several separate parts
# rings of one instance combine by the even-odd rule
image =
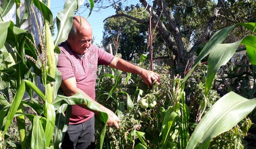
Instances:
[[[61,11],[63,9],[65,0],[53,0],[51,1],[51,11],[53,14],[53,18],[56,18],[56,15],[59,11]],[[130,4],[137,4],[139,3],[139,0],[128,0],[124,2],[124,5],[130,5]],[[105,6],[108,5],[107,1],[103,1],[103,4]],[[83,12],[85,10],[85,8],[80,8],[80,13]],[[94,8],[93,10],[98,10],[97,8]],[[87,15],[89,14],[90,10],[85,10],[82,14],[80,14],[81,16],[84,16],[85,18],[87,17]],[[102,36],[103,36],[103,20],[106,19],[108,16],[114,15],[115,14],[115,10],[112,7],[108,7],[106,9],[101,9],[99,12],[92,12],[91,16],[87,19],[88,22],[91,24],[92,26],[92,34],[94,35],[95,41],[94,44],[101,44],[101,40],[102,40]],[[53,39],[56,38],[57,35],[57,27],[55,24],[55,30],[54,33],[55,35],[53,36]]]

